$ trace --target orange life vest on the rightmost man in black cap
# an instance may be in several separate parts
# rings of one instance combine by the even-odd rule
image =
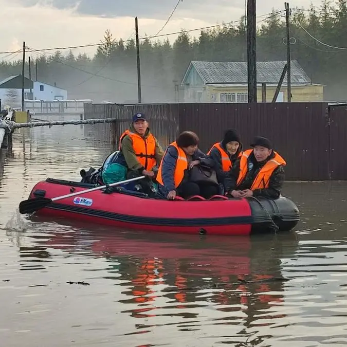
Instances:
[[[240,173],[238,180],[236,181],[236,187],[240,186],[243,180],[246,178],[248,172],[248,157],[253,150],[244,151],[240,159]],[[269,187],[270,177],[272,172],[275,171],[280,165],[286,165],[285,160],[275,151],[275,157],[270,159],[261,168],[258,175],[255,177],[250,190],[264,189]]]

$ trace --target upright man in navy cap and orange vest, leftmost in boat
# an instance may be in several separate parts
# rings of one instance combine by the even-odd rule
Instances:
[[[117,162],[129,170],[127,178],[145,175],[154,178],[153,168],[160,164],[164,151],[152,135],[145,115],[138,112],[133,122],[119,140],[119,159]],[[142,181],[139,181],[141,184]]]

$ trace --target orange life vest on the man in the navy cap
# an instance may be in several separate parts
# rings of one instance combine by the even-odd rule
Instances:
[[[133,141],[133,148],[137,160],[145,170],[152,170],[156,165],[155,160],[155,137],[150,134],[147,138],[141,137],[139,134],[126,130],[119,140],[119,150],[121,149],[123,138],[128,135]]]

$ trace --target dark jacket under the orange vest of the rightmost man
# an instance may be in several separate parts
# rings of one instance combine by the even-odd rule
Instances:
[[[251,170],[247,171],[247,175],[244,179],[244,181],[241,183],[239,187],[236,188],[236,182],[239,177],[240,173],[240,160],[237,160],[235,162],[235,165],[232,167],[232,169],[228,172],[228,174],[225,177],[224,180],[224,187],[227,192],[231,192],[232,190],[245,190],[250,189],[255,177],[257,177],[259,171],[261,168],[265,165],[267,161],[275,157],[275,154],[272,152],[272,154],[264,161],[258,162],[255,160],[253,152],[248,157],[248,164],[253,165]],[[280,165],[277,169],[275,169],[272,172],[272,175],[270,177],[269,181],[269,187],[264,189],[255,189],[253,191],[253,196],[263,196],[263,197],[269,197],[273,199],[277,199],[280,197],[281,189],[284,181],[284,168],[283,165]]]

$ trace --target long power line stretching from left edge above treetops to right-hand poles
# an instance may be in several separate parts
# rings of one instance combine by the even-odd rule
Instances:
[[[281,13],[281,12],[283,12],[283,11],[278,11],[276,13],[266,13],[266,14],[262,14],[258,17],[265,17],[265,16],[269,16],[269,15],[270,15],[269,17],[271,17],[272,15],[277,14],[277,13]],[[267,18],[265,18],[264,20],[266,20],[266,19]],[[264,20],[262,20],[262,21],[264,21]],[[260,22],[262,22],[262,21],[260,21]],[[193,32],[193,31],[199,31],[199,30],[212,29],[212,28],[220,27],[222,25],[231,25],[231,24],[236,24],[236,23],[240,23],[240,22],[241,22],[241,20],[238,20],[238,21],[231,21],[231,22],[227,22],[227,23],[223,23],[223,24],[215,24],[215,25],[210,25],[210,26],[200,27],[200,28],[195,28],[195,29],[190,29],[190,30],[180,30],[180,31],[170,32],[168,34],[147,36],[144,38],[140,38],[140,40],[150,40],[150,39],[161,38],[163,36],[178,35],[182,32]],[[125,40],[123,42],[130,42],[130,41],[133,41],[133,40],[130,39],[130,40]],[[96,46],[101,46],[101,45],[102,45],[102,43],[93,43],[93,44],[89,44],[89,45],[79,45],[79,46],[42,48],[42,49],[34,49],[34,50],[32,50],[32,52],[45,52],[45,51],[50,51],[50,50],[65,50],[65,49],[74,49],[74,48],[96,47]],[[9,54],[9,53],[17,53],[17,52],[16,51],[0,52],[0,54]]]

